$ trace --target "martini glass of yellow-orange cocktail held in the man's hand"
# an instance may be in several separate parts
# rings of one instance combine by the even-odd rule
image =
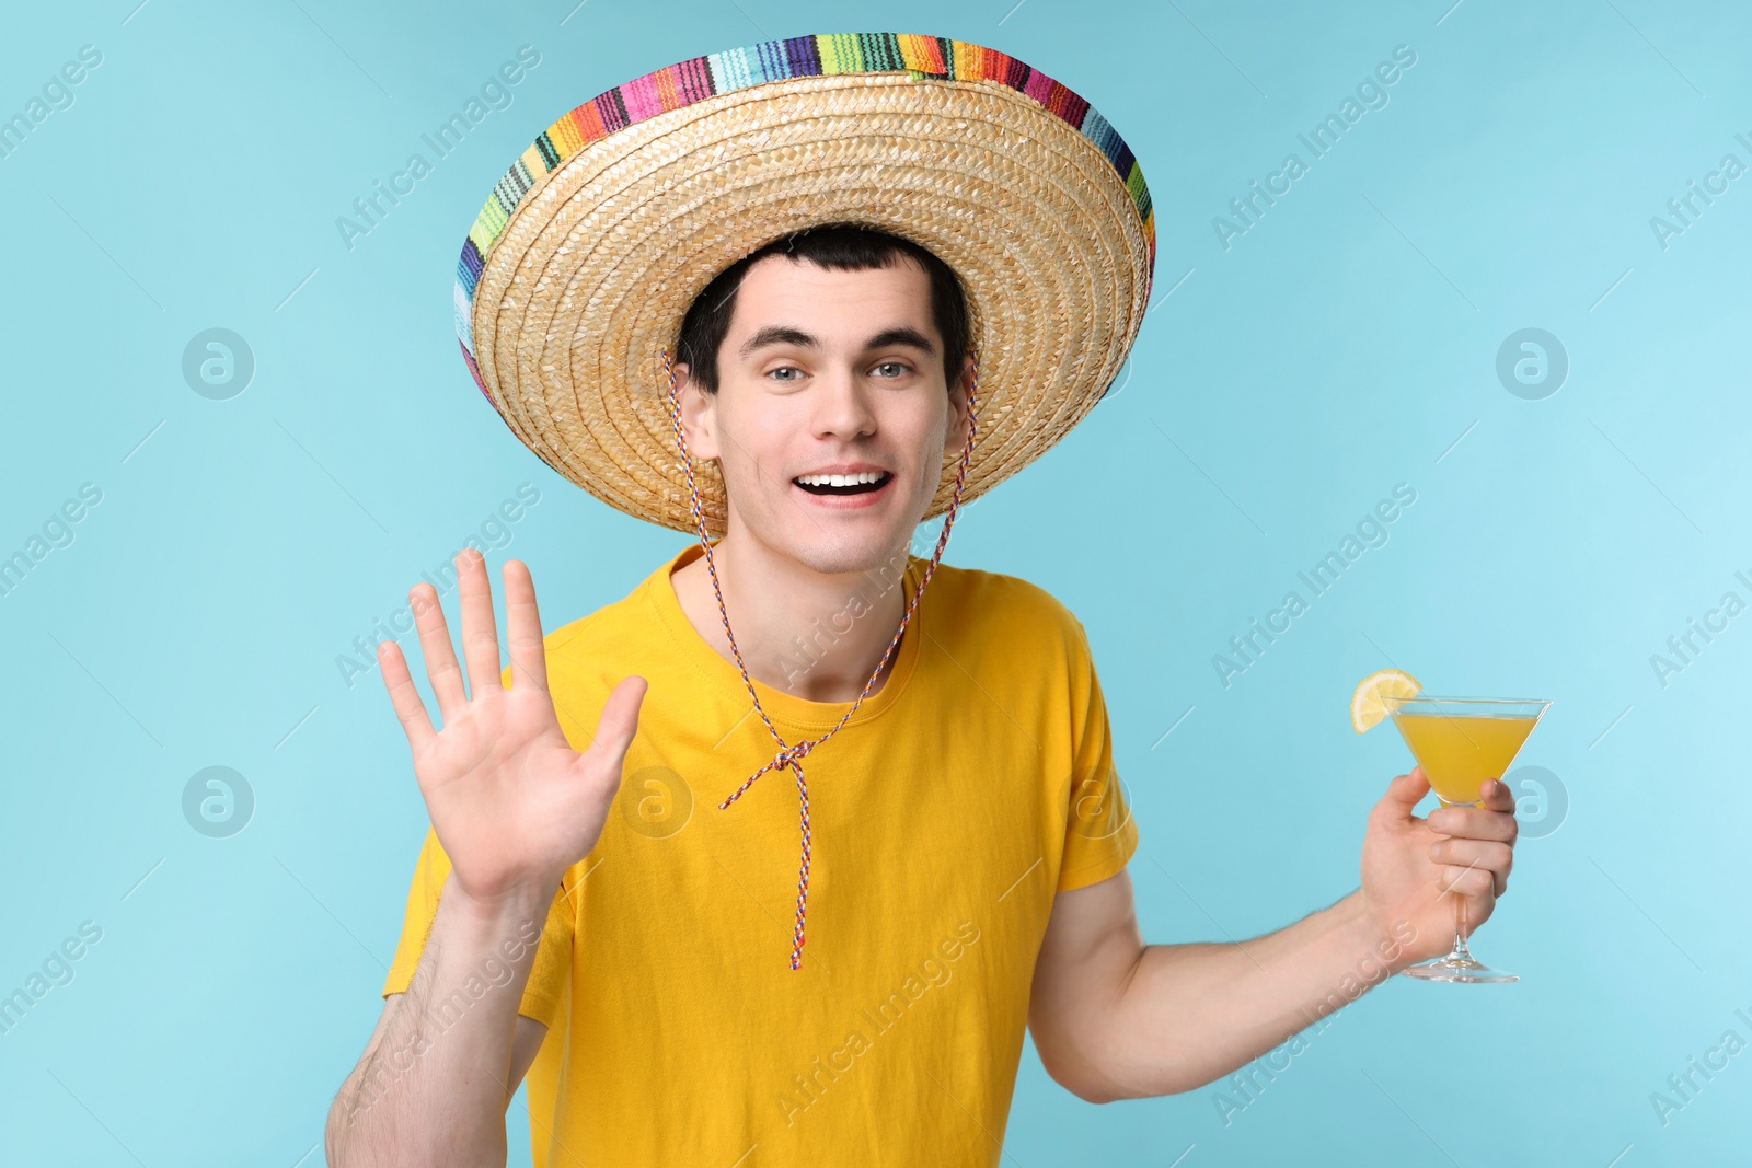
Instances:
[[[1486,779],[1508,770],[1551,702],[1501,697],[1386,697],[1400,737],[1410,748],[1444,807],[1479,804]],[[1456,895],[1454,951],[1400,970],[1424,981],[1503,982],[1514,974],[1473,960],[1466,949],[1466,902]]]

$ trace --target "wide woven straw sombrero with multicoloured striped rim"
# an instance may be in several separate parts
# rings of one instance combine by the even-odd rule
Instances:
[[[829,222],[908,238],[960,277],[981,401],[962,503],[1063,438],[1142,326],[1155,215],[1107,119],[997,49],[832,33],[659,68],[541,131],[463,245],[463,357],[555,471],[696,531],[666,355],[717,273]],[[948,510],[955,459],[925,518]],[[694,469],[722,536],[724,482]]]

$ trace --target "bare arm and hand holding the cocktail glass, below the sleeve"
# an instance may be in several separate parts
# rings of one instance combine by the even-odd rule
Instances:
[[[1041,1063],[1091,1103],[1191,1091],[1447,953],[1454,897],[1482,925],[1514,862],[1514,797],[1486,786],[1484,807],[1419,820],[1430,785],[1398,776],[1368,816],[1361,888],[1253,940],[1146,946],[1127,872],[1058,893],[1028,1005]]]

